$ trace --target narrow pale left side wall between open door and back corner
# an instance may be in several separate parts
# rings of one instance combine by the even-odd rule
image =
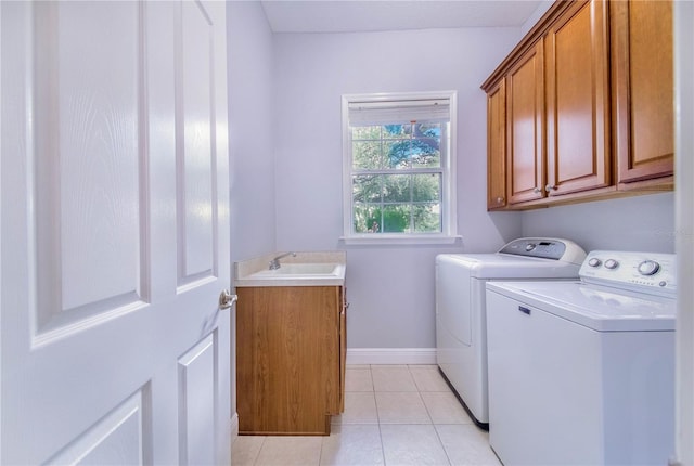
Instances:
[[[272,31],[260,2],[227,3],[232,262],[275,249]]]

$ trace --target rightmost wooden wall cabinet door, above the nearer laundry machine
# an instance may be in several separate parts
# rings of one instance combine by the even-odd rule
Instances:
[[[618,183],[673,172],[672,2],[611,3]]]

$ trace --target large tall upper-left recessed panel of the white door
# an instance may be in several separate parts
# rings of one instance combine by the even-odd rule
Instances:
[[[34,11],[35,152],[28,155],[36,178],[27,187],[36,200],[28,232],[36,245],[28,262],[35,344],[147,301],[147,258],[140,251],[147,248],[149,211],[139,202],[146,191],[146,153],[138,140],[146,118],[138,89],[142,13],[134,2],[39,3]],[[114,33],[124,39],[111,40]],[[111,69],[118,76],[107,76]]]

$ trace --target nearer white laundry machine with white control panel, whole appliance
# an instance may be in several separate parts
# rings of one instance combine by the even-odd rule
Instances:
[[[489,443],[504,465],[665,465],[676,258],[591,251],[575,282],[487,284]]]

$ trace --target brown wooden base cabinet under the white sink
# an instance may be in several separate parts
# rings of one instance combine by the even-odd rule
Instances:
[[[241,435],[330,435],[344,410],[342,286],[237,288]]]

